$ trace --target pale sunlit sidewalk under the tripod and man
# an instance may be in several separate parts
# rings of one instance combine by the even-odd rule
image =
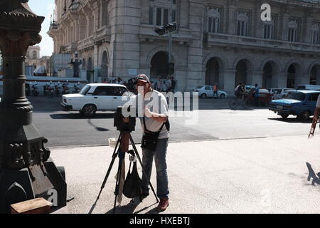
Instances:
[[[165,213],[320,213],[320,186],[306,180],[306,162],[320,171],[319,147],[319,134],[311,140],[289,136],[171,142],[167,155],[171,195]],[[71,213],[87,214],[92,209],[112,149],[51,149],[55,164],[65,166],[68,196],[75,197],[68,203]],[[112,212],[117,161],[92,213]],[[155,176],[154,170],[151,182],[156,188]],[[124,197],[117,212],[155,212],[153,195],[140,204],[129,201]]]

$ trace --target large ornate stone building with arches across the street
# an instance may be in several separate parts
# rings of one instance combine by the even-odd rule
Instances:
[[[271,6],[272,21],[261,20]],[[54,53],[78,53],[90,82],[168,73],[169,0],[55,0]],[[178,90],[218,83],[320,85],[320,5],[302,0],[174,0],[172,61]]]

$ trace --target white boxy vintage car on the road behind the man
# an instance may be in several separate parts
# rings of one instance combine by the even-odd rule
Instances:
[[[127,87],[119,84],[87,84],[80,93],[63,95],[60,104],[63,110],[79,111],[81,115],[92,117],[97,111],[117,110],[130,95]]]

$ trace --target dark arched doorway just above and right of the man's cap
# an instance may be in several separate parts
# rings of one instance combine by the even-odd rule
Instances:
[[[151,59],[150,77],[167,78],[168,76],[169,55],[164,51],[159,51]]]

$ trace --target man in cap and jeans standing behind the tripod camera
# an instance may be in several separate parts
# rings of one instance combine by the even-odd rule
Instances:
[[[156,209],[164,212],[169,206],[169,187],[166,165],[166,151],[169,142],[168,104],[164,95],[151,88],[149,78],[138,75],[135,80],[138,96],[144,102],[144,116],[140,118],[144,135],[142,138],[142,164],[146,177],[150,179],[152,162],[156,164],[156,194],[160,203]],[[138,99],[139,100],[139,99]],[[153,103],[150,110],[150,103]],[[142,199],[149,195],[149,184],[142,177]]]

